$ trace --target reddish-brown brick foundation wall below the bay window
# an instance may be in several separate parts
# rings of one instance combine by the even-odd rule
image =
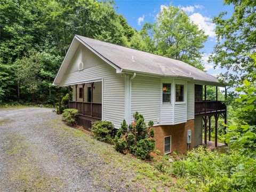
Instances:
[[[187,130],[191,130],[192,138],[189,149],[194,146],[194,119],[188,120],[186,123],[177,125],[159,125],[153,127],[155,132],[155,149],[164,154],[164,137],[171,135],[171,152],[178,151],[186,153],[187,151]]]

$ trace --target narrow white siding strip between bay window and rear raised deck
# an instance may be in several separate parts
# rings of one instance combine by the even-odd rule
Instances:
[[[195,118],[195,84],[188,82],[187,119]]]

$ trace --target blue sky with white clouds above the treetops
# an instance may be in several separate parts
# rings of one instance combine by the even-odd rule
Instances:
[[[215,24],[212,22],[213,17],[217,17],[220,12],[227,11],[227,17],[233,12],[233,6],[223,5],[222,0],[201,0],[201,1],[129,1],[129,0],[116,0],[115,9],[117,13],[121,13],[126,18],[128,24],[133,28],[140,30],[145,22],[154,23],[156,15],[163,9],[164,6],[177,6],[187,13],[189,18],[198,25],[198,27],[205,31],[209,37],[204,43],[202,51],[203,61],[207,73],[217,76],[220,73],[225,73],[225,69],[215,68],[213,64],[208,63],[209,55],[213,51],[215,44]]]

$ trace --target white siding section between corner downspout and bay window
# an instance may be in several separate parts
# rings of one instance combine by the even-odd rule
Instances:
[[[148,123],[157,124],[161,113],[161,79],[156,77],[136,76],[132,80],[131,119],[138,111]]]

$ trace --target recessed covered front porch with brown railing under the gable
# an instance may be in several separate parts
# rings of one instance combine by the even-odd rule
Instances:
[[[70,92],[72,91],[72,97]],[[89,121],[102,119],[102,82],[70,85],[68,108],[78,110],[79,116]],[[86,118],[87,117],[87,118]]]

